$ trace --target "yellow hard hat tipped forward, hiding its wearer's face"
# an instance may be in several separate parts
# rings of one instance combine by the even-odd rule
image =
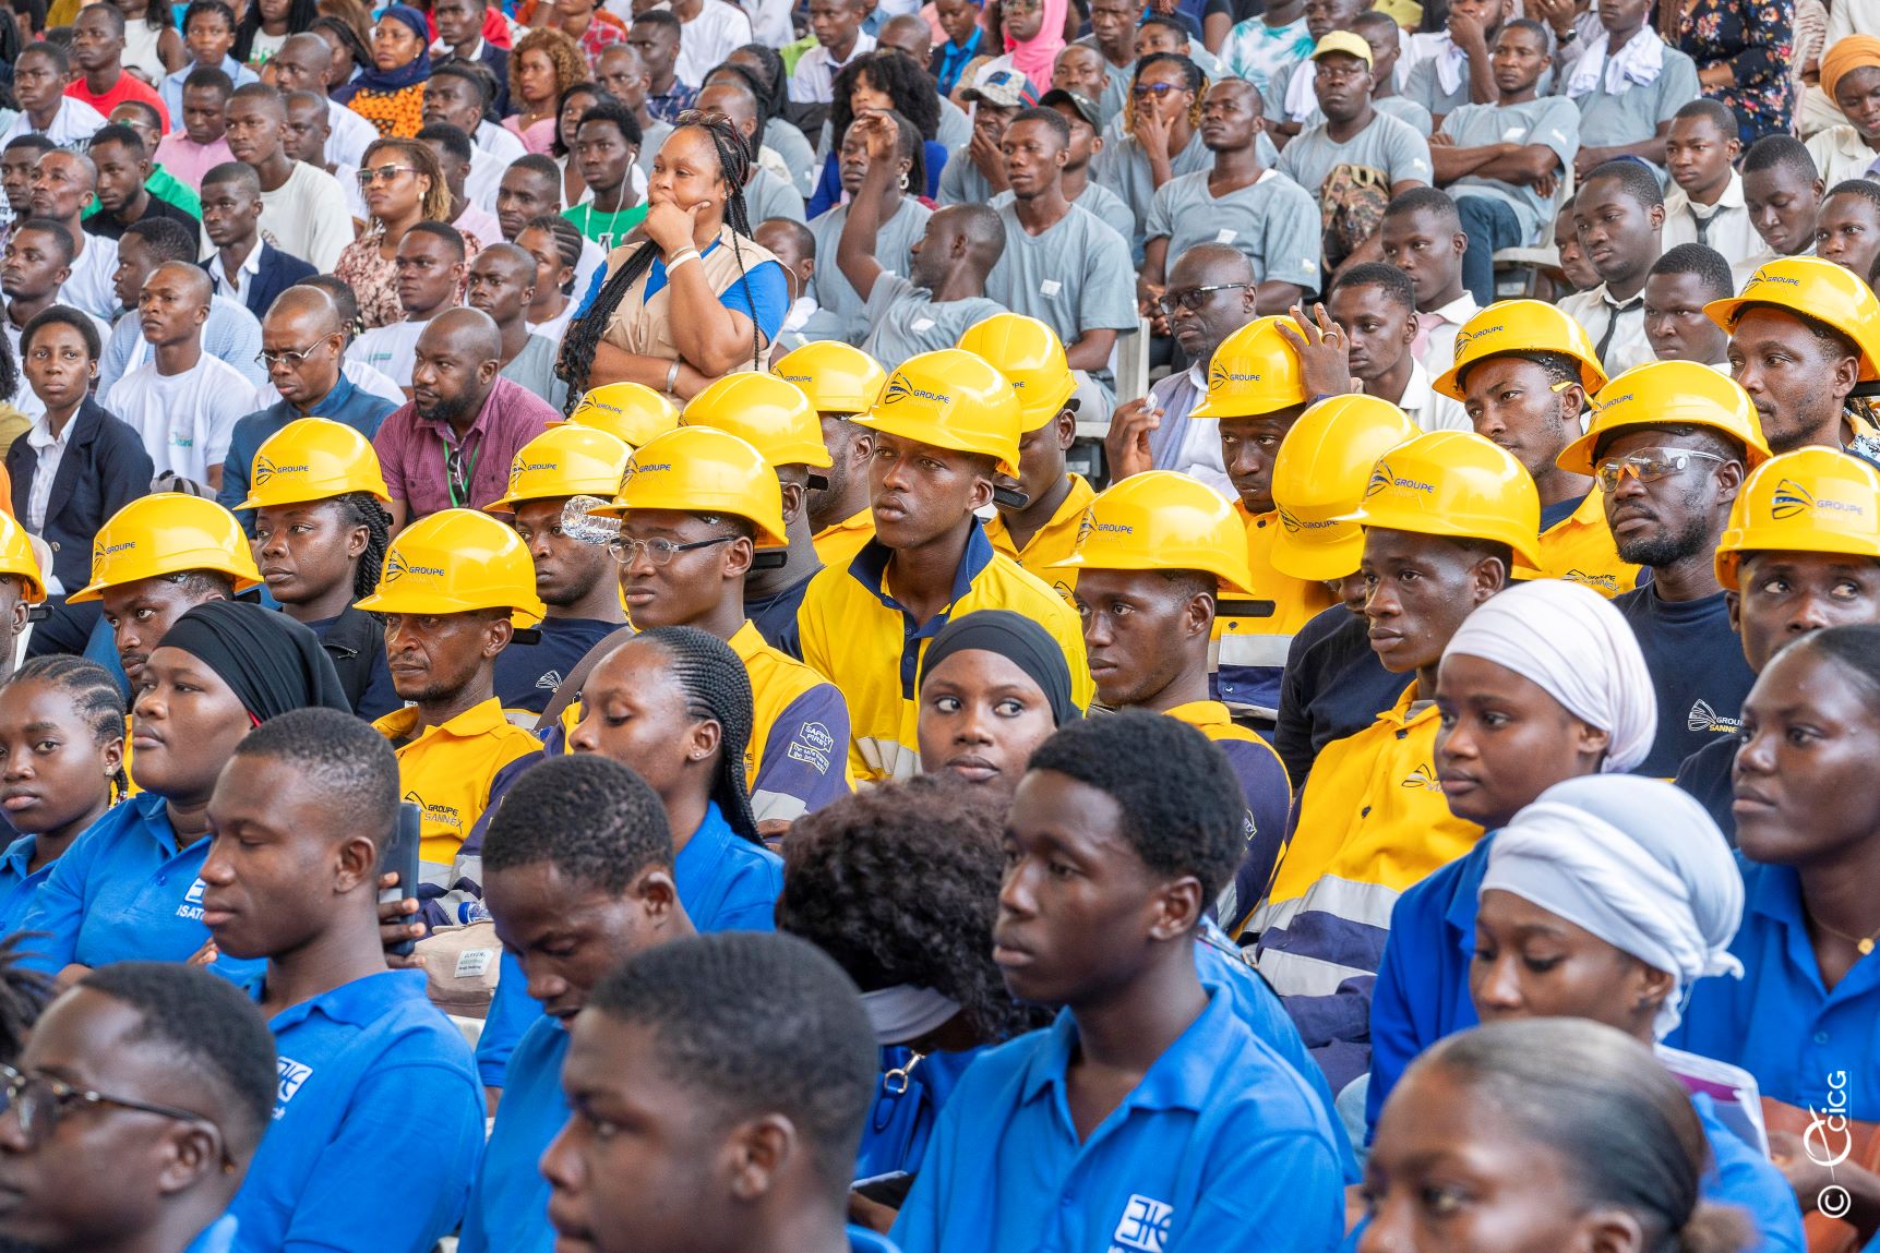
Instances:
[[[1378,458],[1416,436],[1416,423],[1378,396],[1333,396],[1301,413],[1273,458],[1275,569],[1320,580],[1355,571],[1365,534],[1350,513]]]

